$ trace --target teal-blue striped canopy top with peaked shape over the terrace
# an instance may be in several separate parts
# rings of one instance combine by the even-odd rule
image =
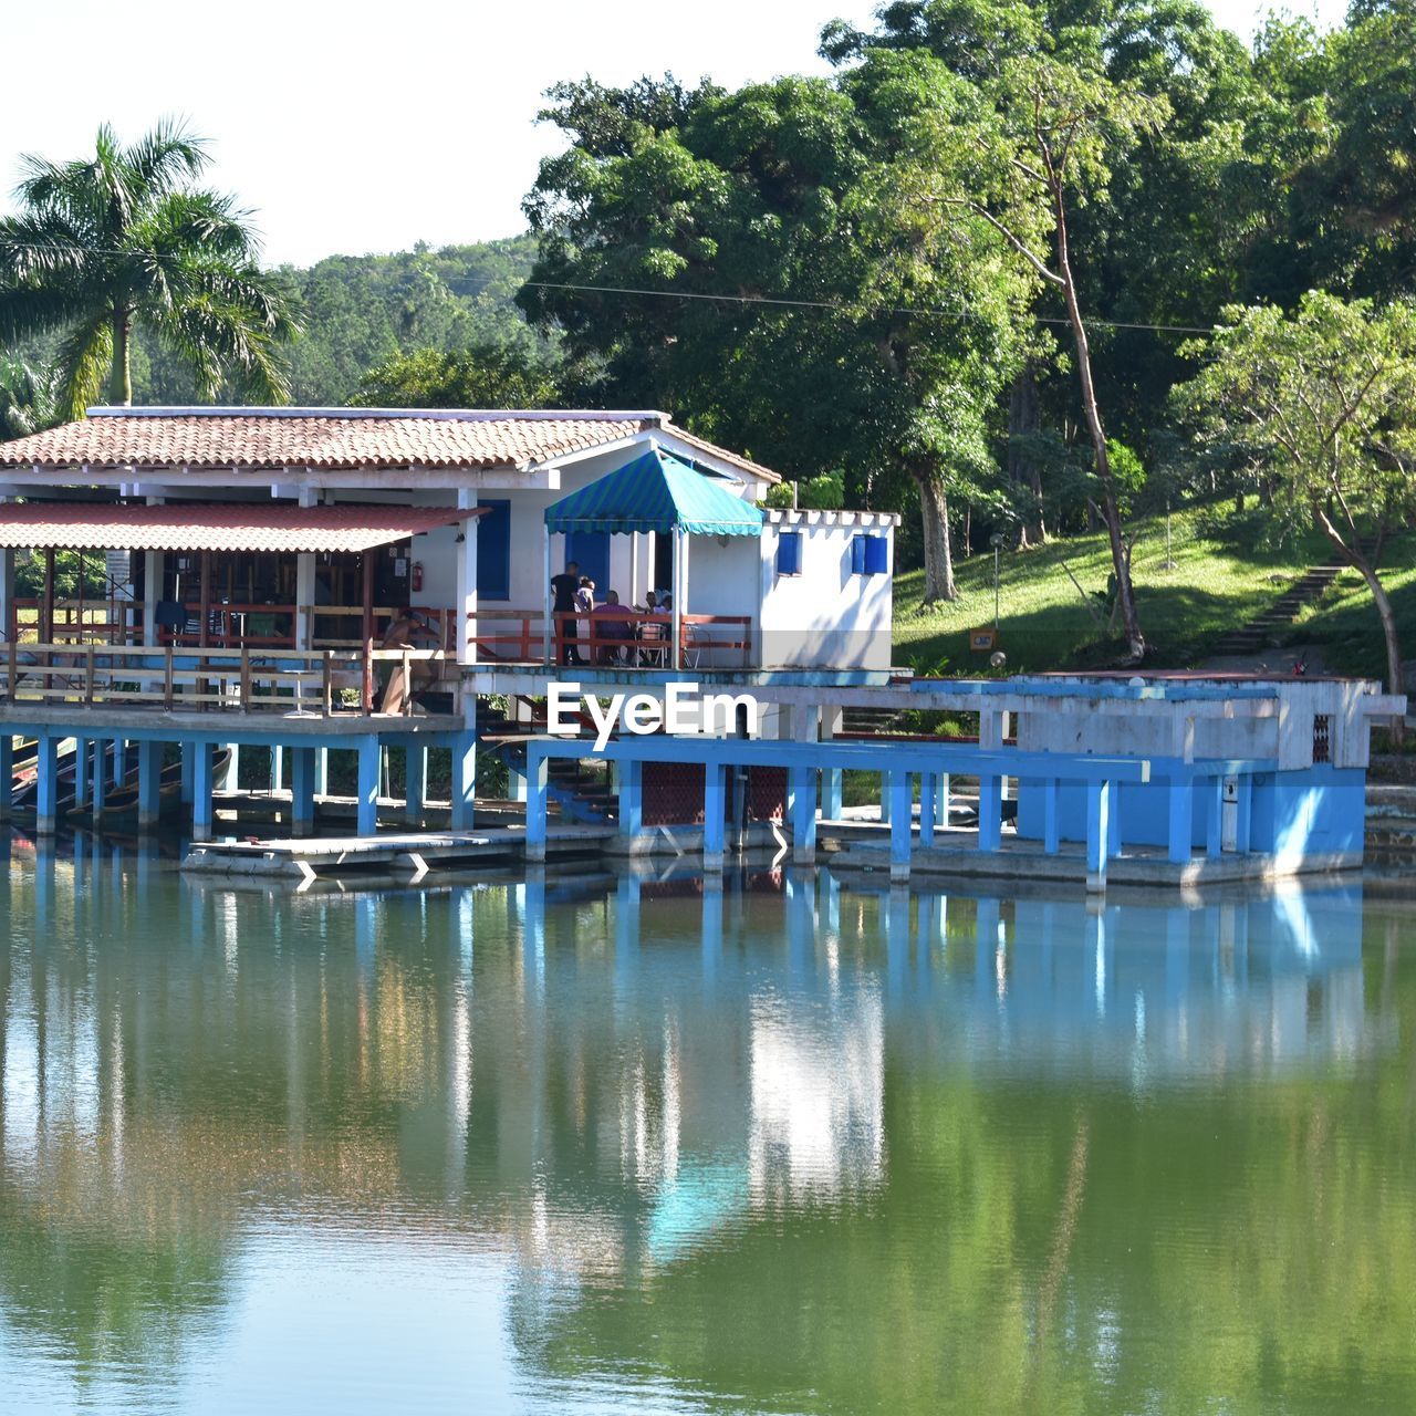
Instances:
[[[762,513],[721,481],[650,447],[588,487],[545,508],[547,531],[632,531],[675,528],[690,535],[762,535]]]

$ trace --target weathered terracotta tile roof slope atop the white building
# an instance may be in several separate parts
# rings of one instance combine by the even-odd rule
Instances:
[[[661,415],[112,413],[0,443],[0,467],[525,467],[658,426]]]

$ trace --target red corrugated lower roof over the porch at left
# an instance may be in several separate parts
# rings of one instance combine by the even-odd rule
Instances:
[[[456,507],[289,503],[25,501],[0,506],[0,549],[57,551],[371,551],[464,521]]]

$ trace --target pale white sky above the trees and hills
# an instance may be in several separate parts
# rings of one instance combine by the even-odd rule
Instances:
[[[1260,6],[1209,0],[1250,34]],[[0,210],[21,153],[92,152],[163,116],[211,139],[207,184],[256,217],[265,259],[402,251],[513,235],[558,79],[671,71],[736,86],[824,74],[821,25],[874,0],[45,0],[4,23]],[[1345,0],[1298,0],[1335,23]]]

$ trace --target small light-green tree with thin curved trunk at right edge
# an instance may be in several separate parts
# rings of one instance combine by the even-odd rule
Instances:
[[[1202,446],[1267,480],[1277,515],[1315,525],[1361,573],[1400,692],[1396,616],[1374,547],[1416,511],[1416,309],[1323,292],[1293,314],[1231,307],[1208,353],[1177,406]]]

